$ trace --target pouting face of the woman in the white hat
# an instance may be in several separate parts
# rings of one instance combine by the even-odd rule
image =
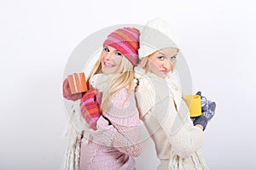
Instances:
[[[163,48],[148,56],[148,71],[165,78],[176,65],[177,48]]]

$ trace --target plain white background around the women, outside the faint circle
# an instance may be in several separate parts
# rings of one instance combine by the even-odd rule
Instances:
[[[239,1],[241,2],[241,1]],[[256,167],[253,1],[0,1],[0,169],[59,169],[67,125],[61,96],[69,55],[106,26],[167,20],[195,92],[217,102],[203,146],[210,169]],[[155,169],[150,140],[137,169]]]

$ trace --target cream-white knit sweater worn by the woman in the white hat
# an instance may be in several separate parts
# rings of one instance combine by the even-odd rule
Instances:
[[[169,77],[135,71],[137,107],[154,140],[158,169],[207,169],[200,153],[203,132],[190,120],[180,88]]]

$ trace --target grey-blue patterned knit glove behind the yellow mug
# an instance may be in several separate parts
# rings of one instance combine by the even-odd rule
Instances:
[[[215,114],[216,103],[210,100],[207,100],[206,97],[201,95],[201,92],[197,92],[196,94],[201,96],[201,116],[195,117],[192,121],[194,125],[201,124],[203,130],[206,129],[207,123],[212,119]]]

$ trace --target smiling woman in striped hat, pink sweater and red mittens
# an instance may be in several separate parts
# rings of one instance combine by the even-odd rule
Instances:
[[[102,54],[88,77],[89,91],[70,95],[64,81],[63,95],[76,100],[73,112],[73,144],[67,150],[65,169],[133,170],[142,144],[139,143],[139,115],[134,94],[134,66],[137,65],[140,32],[131,27],[113,31],[103,42]]]

